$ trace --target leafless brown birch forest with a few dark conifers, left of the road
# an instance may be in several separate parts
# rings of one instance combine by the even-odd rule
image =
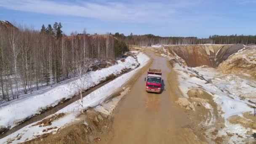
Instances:
[[[61,23],[0,28],[0,98],[10,101],[79,73],[92,59],[115,59],[128,51],[125,42],[111,35],[64,35]]]

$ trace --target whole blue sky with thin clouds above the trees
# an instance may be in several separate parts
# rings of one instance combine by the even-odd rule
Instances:
[[[61,22],[69,35],[256,35],[256,0],[0,0],[0,20],[40,29]]]

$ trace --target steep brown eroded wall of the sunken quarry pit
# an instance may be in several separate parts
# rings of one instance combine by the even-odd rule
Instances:
[[[189,67],[218,67],[244,45],[168,45],[165,48],[184,59]]]

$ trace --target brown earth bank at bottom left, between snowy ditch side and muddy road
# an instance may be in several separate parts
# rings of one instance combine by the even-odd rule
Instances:
[[[65,128],[59,129],[56,134],[45,133],[44,135],[25,141],[24,144],[92,144],[104,139],[102,133],[109,131],[110,119],[88,109],[77,117],[77,121]]]

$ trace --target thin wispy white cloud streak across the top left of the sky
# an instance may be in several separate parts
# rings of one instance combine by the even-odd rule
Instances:
[[[190,0],[189,0],[190,1]],[[61,3],[49,0],[0,0],[0,7],[33,13],[80,16],[107,21],[171,21],[176,8],[189,4],[187,0],[172,3],[83,2]]]

